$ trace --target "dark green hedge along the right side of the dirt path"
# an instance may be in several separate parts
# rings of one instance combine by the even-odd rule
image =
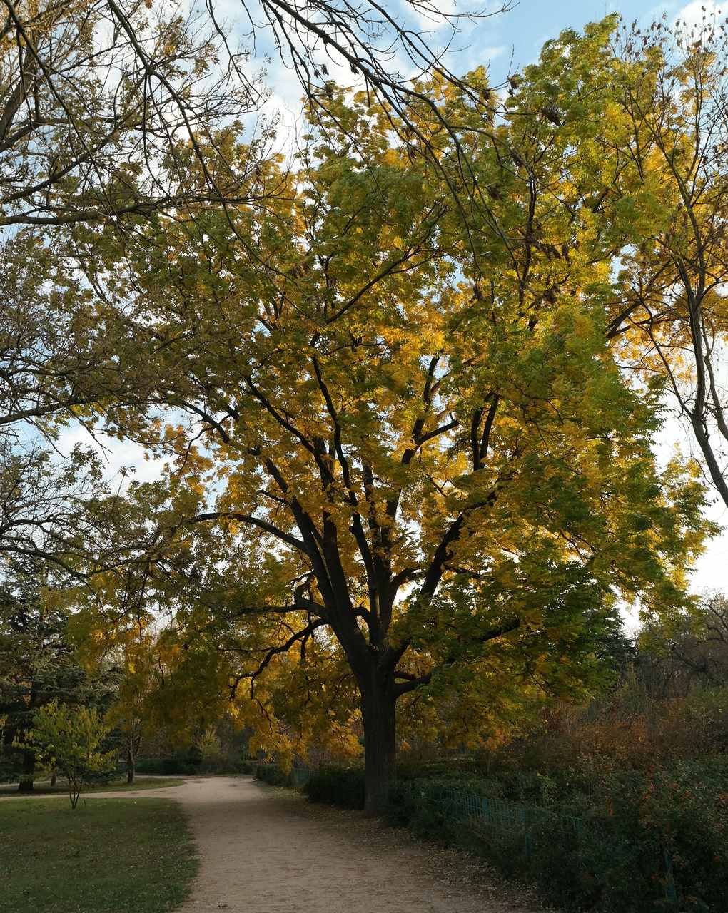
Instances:
[[[484,856],[564,909],[724,913],[728,760],[681,761],[650,775],[606,771],[588,793],[583,780],[548,782],[552,804],[536,805],[498,798],[543,792],[528,778],[413,779],[394,786],[387,817]]]

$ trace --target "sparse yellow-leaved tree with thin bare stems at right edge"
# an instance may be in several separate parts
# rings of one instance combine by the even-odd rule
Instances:
[[[725,21],[615,34],[602,194],[630,221],[608,334],[644,382],[663,385],[728,505]]]

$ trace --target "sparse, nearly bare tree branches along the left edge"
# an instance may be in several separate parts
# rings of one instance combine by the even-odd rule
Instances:
[[[90,548],[83,504],[100,472],[79,448],[54,452],[59,431],[92,430],[111,398],[147,404],[151,390],[123,320],[102,325],[91,287],[69,274],[73,241],[58,226],[118,247],[134,218],[239,200],[246,167],[220,171],[216,135],[253,103],[252,82],[217,68],[212,24],[174,5],[122,6],[8,0],[0,25],[0,551],[67,569]]]

